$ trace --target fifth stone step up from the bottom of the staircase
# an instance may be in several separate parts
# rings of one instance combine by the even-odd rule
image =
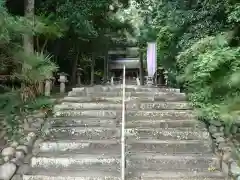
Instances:
[[[49,118],[52,127],[119,127],[122,124],[120,118],[81,118],[81,117],[55,117]],[[142,119],[142,120],[126,120],[126,128],[205,128],[205,124],[197,120],[171,120],[171,119]]]

